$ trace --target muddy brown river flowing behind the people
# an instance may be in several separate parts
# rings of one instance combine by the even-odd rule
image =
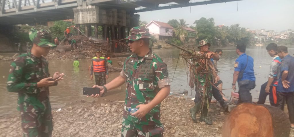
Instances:
[[[215,49],[211,49],[214,51]],[[180,58],[178,61],[179,50],[177,49],[160,49],[154,50],[168,65],[168,71],[172,81],[171,92],[178,93],[183,90],[188,90],[188,98],[193,98],[195,91],[192,91],[187,85],[187,74],[183,63],[183,59]],[[289,54],[292,56],[294,53],[294,48],[288,48]],[[265,49],[265,46],[259,47],[248,47],[246,53],[253,57],[254,59],[254,71],[256,77],[256,87],[251,90],[253,100],[258,99],[260,86],[267,81],[269,64],[273,59],[270,57]],[[7,56],[7,53],[0,53],[0,55]],[[11,54],[12,56],[13,54]],[[223,81],[223,89],[230,89],[233,72],[234,72],[234,62],[238,58],[238,55],[235,53],[235,48],[223,49],[223,55],[218,61],[218,70],[219,76]],[[113,65],[118,67],[117,61],[123,61],[123,59],[113,59]],[[82,89],[85,86],[92,86],[95,81],[89,78],[88,66],[91,64],[90,59],[82,59],[80,61],[80,67],[74,69],[73,60],[64,61],[64,60],[48,60],[49,61],[49,71],[51,74],[54,72],[64,72],[66,76],[64,80],[60,81],[58,86],[50,87],[50,102],[52,110],[57,110],[64,107],[70,102],[79,102],[80,100],[85,100],[91,102],[96,100],[98,102],[103,102],[101,98],[86,98],[82,95]],[[178,65],[176,67],[178,61]],[[6,89],[7,76],[9,72],[10,62],[0,61],[0,116],[1,115],[10,115],[14,113],[19,113],[16,110],[17,103],[17,93],[9,93]],[[174,74],[176,68],[176,72]],[[106,82],[109,82],[111,79],[117,77],[119,72],[111,72],[109,74],[109,79]],[[173,77],[174,75],[174,77]],[[238,90],[238,89],[237,89]],[[107,100],[120,100],[123,101],[125,97],[125,85],[122,85],[118,89],[109,91],[104,99]],[[226,97],[230,98],[230,92],[232,90],[224,90]],[[191,100],[192,101],[192,100]],[[268,101],[267,101],[268,102]]]

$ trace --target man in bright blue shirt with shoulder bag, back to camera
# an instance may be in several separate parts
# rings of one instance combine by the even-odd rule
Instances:
[[[255,76],[253,70],[253,58],[246,55],[246,46],[238,44],[236,53],[239,55],[235,62],[233,74],[233,90],[236,90],[236,81],[239,86],[239,103],[252,103],[250,90],[255,88]]]

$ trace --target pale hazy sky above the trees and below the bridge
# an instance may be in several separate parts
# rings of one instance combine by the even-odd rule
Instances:
[[[192,1],[193,2],[193,1]],[[184,19],[193,24],[201,17],[213,18],[215,25],[230,26],[240,24],[240,27],[283,31],[294,30],[294,0],[243,0],[237,2],[217,3],[172,8],[158,11],[140,12],[140,20],[168,22],[172,19]]]

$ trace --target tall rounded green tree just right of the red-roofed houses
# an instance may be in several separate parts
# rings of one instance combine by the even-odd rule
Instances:
[[[200,18],[200,20],[195,20],[196,24],[196,40],[201,41],[202,39],[207,39],[214,43],[214,37],[216,36],[216,27],[214,26],[213,18]]]

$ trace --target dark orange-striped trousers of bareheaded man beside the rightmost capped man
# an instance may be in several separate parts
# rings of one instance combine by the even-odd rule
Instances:
[[[276,95],[273,95],[274,94],[273,93],[273,86],[270,86],[270,93],[266,93],[265,87],[267,84],[268,84],[268,81],[266,81],[264,84],[261,85],[257,104],[264,104],[265,100],[266,100],[266,96],[270,95],[270,105],[276,107],[276,104],[274,103],[274,98],[273,98],[273,96],[276,96]]]

